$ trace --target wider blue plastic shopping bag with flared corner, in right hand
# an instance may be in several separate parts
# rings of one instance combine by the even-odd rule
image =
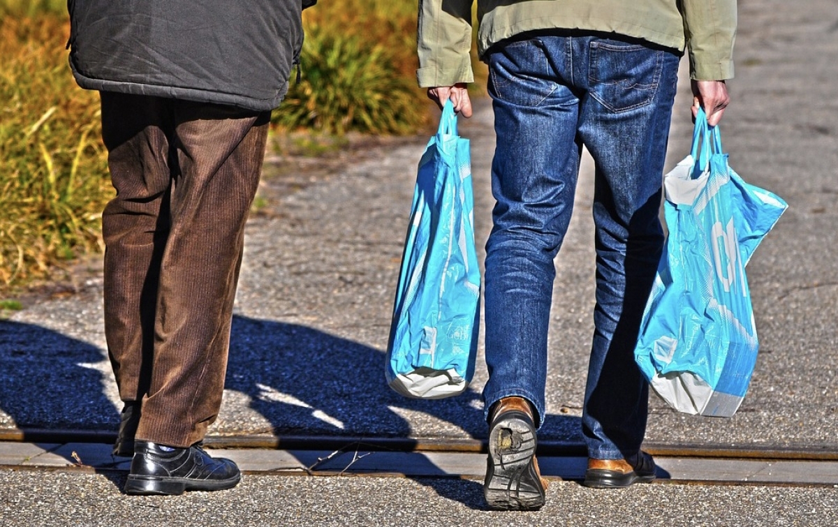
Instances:
[[[759,348],[745,266],[787,205],[733,172],[703,111],[664,187],[669,235],[634,358],[675,410],[729,417]]]

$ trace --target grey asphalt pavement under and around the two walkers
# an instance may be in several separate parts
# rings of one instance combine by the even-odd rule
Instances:
[[[835,0],[810,0],[805,8],[740,0],[722,144],[742,178],[779,194],[789,209],[747,266],[761,347],[736,416],[686,416],[650,400],[647,447],[660,452],[660,483],[603,492],[577,482],[594,277],[587,158],[556,260],[539,436],[554,448],[546,507],[526,514],[484,509],[482,348],[473,385],[457,398],[407,400],[386,386],[401,247],[427,142],[418,135],[322,163],[269,156],[246,230],[225,401],[209,432],[210,445],[246,467],[233,490],[172,499],[120,492],[124,460],[101,450],[121,405],[106,358],[98,261],[75,275],[71,292],[28,301],[0,321],[0,438],[7,440],[0,442],[0,525],[838,524],[836,57]],[[690,104],[682,82],[668,168],[688,153]],[[493,204],[489,103],[478,101],[459,125],[472,142],[482,251]],[[247,438],[271,448],[236,447]],[[365,439],[378,442],[376,452],[367,452]],[[421,452],[393,452],[376,466],[388,441],[398,452]],[[461,452],[424,452],[434,444]],[[672,447],[747,452],[749,462],[767,458],[770,466],[696,462],[667,451]],[[323,468],[318,459],[341,448],[342,460]],[[769,478],[786,470],[784,457],[798,464]]]

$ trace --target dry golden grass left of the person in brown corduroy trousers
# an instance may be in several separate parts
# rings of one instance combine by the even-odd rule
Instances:
[[[0,20],[0,287],[39,278],[98,251],[112,194],[96,93],[67,66],[67,24]]]

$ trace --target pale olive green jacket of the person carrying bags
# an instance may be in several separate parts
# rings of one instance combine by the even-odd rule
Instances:
[[[472,82],[473,0],[419,1],[422,87]],[[581,29],[644,39],[683,51],[695,80],[733,77],[736,0],[477,0],[478,56],[527,31]]]

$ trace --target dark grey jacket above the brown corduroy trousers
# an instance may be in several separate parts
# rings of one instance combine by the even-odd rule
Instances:
[[[311,3],[69,0],[70,68],[89,90],[271,110],[288,90]]]

